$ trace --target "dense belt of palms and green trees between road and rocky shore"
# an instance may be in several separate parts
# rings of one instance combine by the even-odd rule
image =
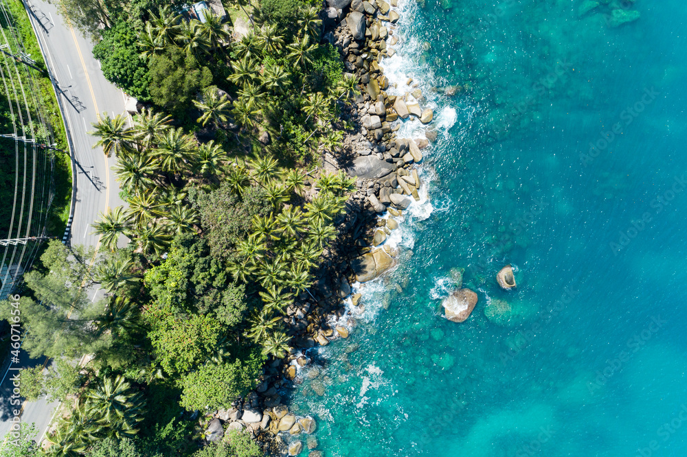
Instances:
[[[93,225],[101,253],[51,243],[26,275],[23,347],[55,363],[23,371],[24,392],[71,406],[47,453],[260,455],[245,434],[200,448],[205,414],[290,350],[286,309],[310,293],[353,185],[318,157],[339,147],[357,82],[305,1],[263,1],[238,41],[155,1],[62,5],[84,15],[106,77],[150,106],[94,125],[126,200]]]

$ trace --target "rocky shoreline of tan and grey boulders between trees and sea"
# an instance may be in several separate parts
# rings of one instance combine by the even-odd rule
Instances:
[[[356,126],[354,132],[346,132],[342,150],[326,152],[323,163],[328,172],[343,169],[355,176],[357,189],[346,213],[335,221],[339,237],[325,250],[317,281],[286,310],[284,323],[293,338],[291,353],[284,360],[269,362],[260,385],[245,399],[207,417],[207,441],[221,439],[225,429],[247,430],[269,454],[295,456],[307,448],[309,457],[322,456],[312,435],[317,422],[310,414],[290,411],[284,396],[302,382],[300,368],[311,364],[308,349],[348,338],[354,331],[352,318],[336,324],[344,315],[346,298],[351,297],[359,311],[363,309],[361,295],[351,296],[350,283],[371,281],[396,265],[398,249],[384,242],[398,229],[394,218],[402,218],[412,202],[420,200],[418,189],[423,183],[416,164],[423,161],[427,139],[436,139],[431,127],[425,132],[427,139],[396,134],[401,128],[398,119],[416,119],[425,125],[433,119],[433,111],[422,107],[426,100],[417,85],[403,96],[387,93],[391,84],[380,64],[396,54],[392,46],[398,43],[395,32],[400,16],[393,9],[397,1],[326,0],[323,42],[339,49],[346,71],[359,81],[360,93],[343,115]],[[393,217],[379,217],[387,212]],[[318,375],[315,368],[308,371],[308,379]],[[322,392],[316,393],[324,395],[326,379],[314,384],[322,384]]]

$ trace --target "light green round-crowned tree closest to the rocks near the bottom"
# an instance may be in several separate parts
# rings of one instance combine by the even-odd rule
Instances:
[[[181,406],[189,411],[228,408],[258,385],[265,358],[259,349],[242,351],[234,362],[208,362],[181,378]]]

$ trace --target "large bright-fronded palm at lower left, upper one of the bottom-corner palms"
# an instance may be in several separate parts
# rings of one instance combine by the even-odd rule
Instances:
[[[122,375],[106,376],[84,395],[87,412],[106,425],[109,436],[131,438],[138,432],[136,425],[143,418],[143,393],[135,391]]]

